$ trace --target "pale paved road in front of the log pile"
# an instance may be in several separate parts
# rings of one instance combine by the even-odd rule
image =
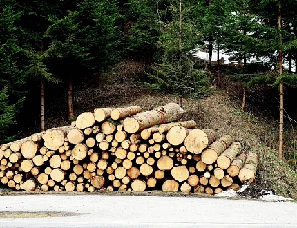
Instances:
[[[1,218],[0,227],[297,227],[297,204],[223,198],[102,195],[0,196],[1,211],[77,216]]]

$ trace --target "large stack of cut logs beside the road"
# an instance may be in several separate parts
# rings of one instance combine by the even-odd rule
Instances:
[[[71,126],[0,146],[0,180],[25,191],[220,193],[253,182],[258,157],[212,129],[180,121],[175,103],[97,108]]]

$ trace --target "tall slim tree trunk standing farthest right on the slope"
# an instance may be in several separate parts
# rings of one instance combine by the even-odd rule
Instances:
[[[280,10],[280,1],[278,1],[278,28],[282,28],[282,15]],[[280,39],[280,44],[282,44],[282,33],[279,31],[278,39]],[[282,75],[282,50],[278,52],[278,71]],[[280,133],[279,133],[279,143],[278,143],[278,158],[282,159],[282,147],[283,147],[283,137],[284,137],[284,84],[280,82]]]

